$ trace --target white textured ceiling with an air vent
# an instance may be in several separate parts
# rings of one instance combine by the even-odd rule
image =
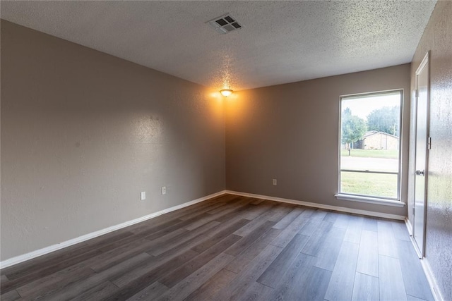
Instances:
[[[409,63],[436,1],[1,1],[1,18],[233,90]],[[220,35],[206,21],[243,26]]]

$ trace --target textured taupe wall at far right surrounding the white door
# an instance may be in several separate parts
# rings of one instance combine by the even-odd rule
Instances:
[[[430,136],[427,184],[427,233],[425,255],[443,294],[452,300],[452,2],[438,1],[412,61],[411,89],[415,72],[430,51]],[[414,115],[411,127],[414,130]],[[414,131],[412,132],[414,133]],[[413,137],[414,138],[414,137]],[[411,148],[414,151],[414,139]],[[410,154],[412,188],[414,152]],[[413,193],[409,190],[410,220]]]

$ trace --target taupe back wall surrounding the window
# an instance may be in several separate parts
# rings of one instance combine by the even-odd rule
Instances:
[[[403,89],[402,201],[407,199],[410,64],[233,94],[226,112],[226,188],[405,216],[406,207],[340,201],[340,95]],[[272,178],[278,185],[272,185]]]

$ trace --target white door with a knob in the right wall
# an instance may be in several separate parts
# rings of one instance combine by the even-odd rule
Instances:
[[[429,148],[429,53],[416,71],[416,162],[415,162],[415,222],[413,234],[417,248],[424,257],[427,199],[427,158]]]

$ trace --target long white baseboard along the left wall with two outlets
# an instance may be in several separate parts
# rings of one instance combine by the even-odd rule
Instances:
[[[29,253],[26,253],[26,254],[22,254],[22,255],[19,255],[19,256],[16,256],[16,257],[12,257],[10,259],[6,259],[3,262],[0,262],[0,269],[4,269],[4,268],[6,268],[8,266],[13,266],[14,264],[19,264],[20,262],[25,262],[25,261],[27,261],[29,259],[40,257],[40,256],[42,256],[44,254],[49,254],[50,252],[54,252],[54,251],[63,249],[64,247],[69,247],[71,245],[75,245],[75,244],[77,244],[79,242],[84,242],[85,240],[90,240],[91,238],[97,238],[97,236],[104,235],[104,234],[107,234],[107,233],[112,232],[112,231],[117,231],[117,230],[119,230],[121,228],[125,228],[127,226],[131,226],[131,225],[133,225],[135,223],[140,223],[141,221],[146,221],[148,219],[153,219],[156,216],[160,216],[162,214],[165,214],[165,213],[168,213],[168,212],[171,212],[171,211],[175,211],[177,209],[182,209],[184,207],[187,207],[187,206],[199,203],[199,202],[203,202],[203,201],[206,201],[207,199],[211,199],[212,197],[218,197],[219,195],[224,195],[224,194],[225,194],[225,190],[222,190],[220,192],[213,193],[212,195],[207,195],[206,197],[200,197],[199,199],[194,199],[193,201],[186,202],[184,204],[180,204],[180,205],[177,205],[177,206],[174,206],[174,207],[170,207],[170,208],[167,208],[167,209],[163,209],[161,211],[154,212],[152,214],[141,216],[138,219],[133,219],[131,221],[126,221],[124,223],[119,223],[119,225],[115,225],[115,226],[111,226],[111,227],[108,227],[108,228],[104,228],[104,229],[99,230],[99,231],[95,231],[95,232],[92,232],[92,233],[88,233],[88,234],[79,236],[78,238],[73,238],[71,240],[66,240],[64,242],[60,242],[60,243],[58,243],[56,245],[51,245],[49,247],[44,247],[44,248],[42,248],[40,250],[35,250],[35,251],[29,252]]]

